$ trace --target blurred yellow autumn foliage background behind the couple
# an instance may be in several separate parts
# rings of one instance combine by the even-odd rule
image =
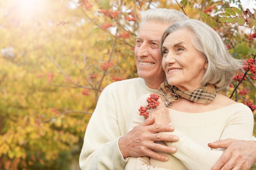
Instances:
[[[256,13],[239,0],[0,0],[0,170],[80,169],[100,92],[137,77],[139,11],[156,7],[206,22],[234,57],[253,59],[222,93],[254,111]]]

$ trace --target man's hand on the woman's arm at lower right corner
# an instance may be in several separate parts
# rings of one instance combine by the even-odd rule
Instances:
[[[249,170],[256,162],[256,142],[224,139],[208,144],[211,148],[227,148],[211,170]]]

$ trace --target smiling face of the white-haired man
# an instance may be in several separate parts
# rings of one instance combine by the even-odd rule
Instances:
[[[153,88],[150,84],[159,86],[165,79],[159,44],[168,26],[161,22],[145,22],[136,38],[134,53],[138,76],[145,79],[150,88]]]

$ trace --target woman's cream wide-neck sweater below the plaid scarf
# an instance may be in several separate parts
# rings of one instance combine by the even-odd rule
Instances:
[[[146,96],[149,94],[139,98],[135,110],[146,105]],[[175,131],[164,133],[177,135],[179,141],[162,144],[175,146],[177,152],[172,155],[162,153],[169,157],[166,162],[148,157],[130,157],[126,170],[211,170],[222,151],[211,150],[207,146],[209,142],[226,138],[252,139],[254,117],[250,108],[241,103],[204,113],[184,113],[169,109],[169,115]],[[133,112],[129,130],[142,121],[144,117]]]

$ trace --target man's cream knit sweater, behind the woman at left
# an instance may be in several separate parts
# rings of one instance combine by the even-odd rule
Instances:
[[[81,170],[124,170],[127,159],[119,150],[119,137],[128,132],[132,109],[139,97],[158,93],[144,79],[134,78],[108,85],[101,93],[86,128],[79,158]]]

